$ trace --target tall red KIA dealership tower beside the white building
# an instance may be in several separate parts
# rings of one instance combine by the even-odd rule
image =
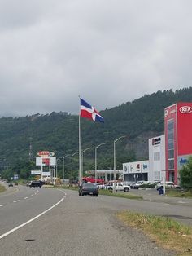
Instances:
[[[192,155],[192,103],[164,110],[166,180],[179,183],[179,170]]]

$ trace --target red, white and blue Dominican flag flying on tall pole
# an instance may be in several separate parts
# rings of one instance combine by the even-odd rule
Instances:
[[[103,117],[98,113],[98,111],[89,105],[84,99],[80,98],[81,105],[81,117],[92,119],[93,121],[104,122]]]

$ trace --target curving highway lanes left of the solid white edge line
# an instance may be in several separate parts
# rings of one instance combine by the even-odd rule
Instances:
[[[20,186],[0,197],[0,236],[55,205],[64,196],[59,190]]]

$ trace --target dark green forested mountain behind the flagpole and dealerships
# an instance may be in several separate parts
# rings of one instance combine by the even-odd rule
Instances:
[[[113,168],[113,141],[121,135],[126,138],[116,143],[117,168],[122,162],[148,158],[148,139],[164,133],[164,108],[179,101],[192,101],[192,87],[158,91],[144,95],[133,102],[101,111],[104,123],[94,123],[81,118],[81,149],[90,148],[84,154],[84,170],[94,170],[94,148],[98,148],[98,169]],[[0,118],[0,168],[7,167],[20,172],[29,159],[29,146],[33,152],[32,162],[40,150],[55,152],[63,157],[78,151],[78,115],[65,112],[36,114],[27,117]],[[70,170],[70,157],[66,168]],[[78,169],[78,155],[74,157]],[[61,161],[58,162],[62,164]],[[26,167],[27,168],[27,167]],[[26,169],[25,168],[25,169]]]

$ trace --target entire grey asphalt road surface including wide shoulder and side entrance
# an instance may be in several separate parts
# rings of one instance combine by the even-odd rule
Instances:
[[[74,191],[50,188],[14,189],[0,196],[0,254],[5,256],[174,255],[159,248],[141,231],[124,227],[116,212],[175,214],[182,216],[178,219],[185,223],[192,219],[190,206],[101,195],[78,196]],[[50,209],[52,205],[55,207]],[[31,222],[14,230],[28,220]]]

